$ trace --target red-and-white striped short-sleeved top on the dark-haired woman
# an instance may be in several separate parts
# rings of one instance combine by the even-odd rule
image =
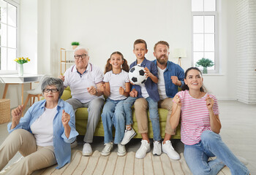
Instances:
[[[206,93],[202,98],[193,98],[189,90],[177,93],[181,98],[181,141],[184,144],[193,145],[201,140],[203,131],[211,131],[210,115],[206,106],[206,97],[214,99],[214,114],[219,114],[217,98]]]

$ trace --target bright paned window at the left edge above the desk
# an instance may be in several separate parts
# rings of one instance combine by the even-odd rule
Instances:
[[[17,57],[18,4],[0,0],[0,70],[14,71]]]

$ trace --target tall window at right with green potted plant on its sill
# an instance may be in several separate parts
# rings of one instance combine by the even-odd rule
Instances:
[[[192,0],[192,26],[192,66],[208,58],[214,62],[208,72],[219,73],[216,0]]]

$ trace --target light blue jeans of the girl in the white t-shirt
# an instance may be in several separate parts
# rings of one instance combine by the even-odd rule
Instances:
[[[112,127],[116,128],[114,144],[120,144],[124,137],[125,117],[124,100],[113,101],[107,99],[102,111],[102,123],[104,128],[104,143],[113,141]]]

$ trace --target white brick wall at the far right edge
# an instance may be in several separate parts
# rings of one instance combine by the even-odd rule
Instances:
[[[256,4],[254,0],[236,1],[237,25],[237,97],[256,104]]]

